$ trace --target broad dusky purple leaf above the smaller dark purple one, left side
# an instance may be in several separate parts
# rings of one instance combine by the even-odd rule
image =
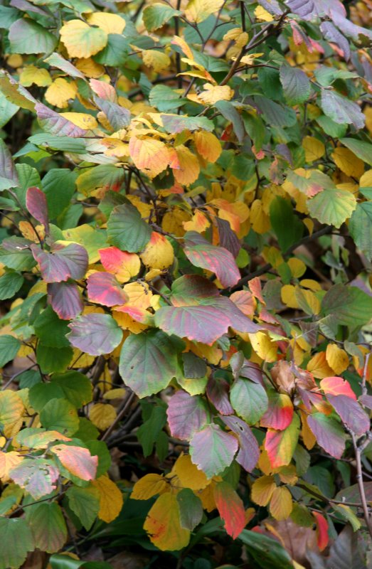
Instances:
[[[78,243],[53,243],[51,251],[43,251],[31,245],[33,258],[40,266],[45,282],[61,282],[68,279],[83,279],[88,265],[87,251]]]

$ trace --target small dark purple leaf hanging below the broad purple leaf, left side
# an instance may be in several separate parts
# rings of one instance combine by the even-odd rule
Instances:
[[[48,296],[51,307],[62,320],[72,320],[83,311],[83,300],[75,282],[48,283]]]

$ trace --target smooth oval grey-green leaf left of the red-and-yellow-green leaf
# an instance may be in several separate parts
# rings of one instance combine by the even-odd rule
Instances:
[[[250,425],[260,420],[268,405],[262,385],[243,378],[238,378],[230,389],[230,401],[235,412]]]

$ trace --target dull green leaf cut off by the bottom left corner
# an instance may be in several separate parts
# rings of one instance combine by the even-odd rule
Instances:
[[[26,520],[0,518],[1,569],[18,569],[26,560],[28,551],[33,551],[34,541]]]

